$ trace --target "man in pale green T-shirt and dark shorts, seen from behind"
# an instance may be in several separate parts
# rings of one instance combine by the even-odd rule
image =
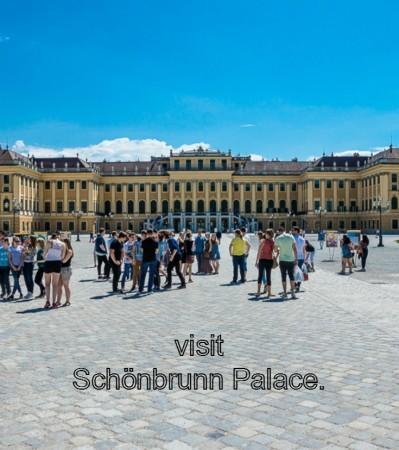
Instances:
[[[285,227],[279,227],[279,236],[275,240],[275,252],[280,256],[280,272],[283,285],[283,298],[287,298],[287,275],[290,279],[291,298],[296,299],[294,269],[298,264],[295,239],[293,236],[285,232]]]

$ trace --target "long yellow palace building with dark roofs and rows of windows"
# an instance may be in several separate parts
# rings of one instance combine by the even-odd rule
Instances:
[[[398,176],[392,146],[314,161],[254,161],[199,147],[131,162],[35,158],[0,147],[0,229],[255,231],[283,223],[398,233]]]

